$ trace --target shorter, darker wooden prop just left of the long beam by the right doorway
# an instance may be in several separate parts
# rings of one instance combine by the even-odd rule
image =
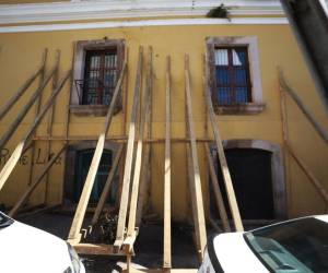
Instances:
[[[208,143],[204,143],[204,147],[206,147],[206,153],[207,153],[207,158],[208,158],[208,164],[209,164],[209,169],[210,169],[210,176],[211,176],[211,182],[212,182],[212,188],[213,188],[213,192],[215,195],[215,201],[216,201],[216,206],[218,206],[218,211],[221,217],[221,221],[223,223],[223,228],[225,232],[231,232],[230,228],[230,224],[229,224],[229,219],[226,216],[226,210],[225,210],[225,205],[223,202],[223,198],[222,198],[222,193],[219,187],[219,179],[218,176],[215,174],[215,168],[213,165],[213,159],[211,156],[211,152],[210,152],[210,147]]]

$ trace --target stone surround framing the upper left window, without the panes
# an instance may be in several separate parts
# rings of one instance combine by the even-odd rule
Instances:
[[[85,57],[89,50],[110,50],[117,51],[117,78],[121,71],[125,58],[126,43],[124,39],[98,39],[79,40],[75,43],[74,72],[73,80],[83,80],[85,72]],[[77,84],[72,84],[70,111],[77,116],[105,116],[108,105],[83,105],[81,104]],[[122,109],[122,97],[119,95],[115,114]]]

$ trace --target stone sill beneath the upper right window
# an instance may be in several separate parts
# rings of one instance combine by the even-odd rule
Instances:
[[[214,111],[218,115],[257,115],[266,109],[266,104],[248,103],[238,105],[215,105]]]

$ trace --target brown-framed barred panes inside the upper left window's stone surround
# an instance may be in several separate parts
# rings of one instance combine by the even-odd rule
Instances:
[[[87,50],[83,79],[83,105],[109,105],[117,80],[117,50]]]

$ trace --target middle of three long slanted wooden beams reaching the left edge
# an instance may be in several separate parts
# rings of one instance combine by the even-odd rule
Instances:
[[[9,129],[5,131],[5,133],[2,135],[0,140],[0,149],[4,147],[9,139],[12,136],[12,134],[16,131],[19,124],[23,120],[23,118],[26,116],[27,111],[32,107],[32,105],[36,102],[36,99],[40,96],[43,93],[44,88],[46,87],[47,83],[50,81],[51,76],[56,72],[57,67],[55,66],[50,73],[46,76],[45,81],[43,84],[34,92],[30,100],[24,104],[24,108],[20,111],[19,116],[9,126]]]

